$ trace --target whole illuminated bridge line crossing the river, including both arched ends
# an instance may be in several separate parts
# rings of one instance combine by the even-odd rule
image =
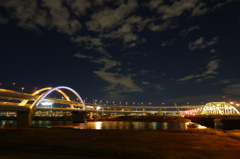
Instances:
[[[77,100],[71,100],[65,90],[71,92]],[[50,98],[52,92],[58,92],[63,98]],[[226,115],[240,114],[232,105],[226,102],[210,102],[206,105],[185,105],[185,106],[107,106],[85,104],[81,96],[72,88],[66,86],[46,87],[36,90],[32,94],[17,92],[13,90],[0,89],[0,115],[15,113],[21,120],[28,119],[27,123],[22,125],[31,125],[33,115],[41,114],[72,114],[76,121],[85,120],[86,114],[91,119],[93,113],[98,115]],[[5,101],[4,101],[5,100]],[[68,105],[68,107],[47,107],[43,103],[51,102]],[[2,112],[2,113],[1,113]],[[25,114],[25,115],[24,115]],[[22,117],[21,117],[22,116]],[[81,117],[80,117],[81,116]],[[21,119],[22,118],[22,119]],[[21,124],[20,124],[21,125]]]

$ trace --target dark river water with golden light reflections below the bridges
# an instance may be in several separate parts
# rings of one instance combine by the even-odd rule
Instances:
[[[15,120],[0,120],[0,126],[11,123],[16,125]],[[86,123],[73,123],[72,121],[45,121],[33,120],[33,127],[66,127],[74,129],[95,129],[95,130],[173,130],[188,129],[189,123],[168,123],[168,122],[126,122],[126,121],[96,121]],[[221,129],[220,123],[215,124],[215,128]],[[199,126],[199,128],[206,128]]]

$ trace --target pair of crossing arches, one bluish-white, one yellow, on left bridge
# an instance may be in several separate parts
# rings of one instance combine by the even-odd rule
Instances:
[[[38,106],[42,100],[47,97],[50,93],[52,93],[53,91],[57,91],[59,92],[60,94],[62,94],[64,96],[64,98],[67,100],[67,101],[70,101],[69,97],[61,90],[61,89],[67,89],[69,91],[71,91],[80,101],[81,103],[83,104],[83,109],[85,110],[86,109],[86,106],[85,106],[85,103],[84,101],[82,100],[81,96],[75,91],[73,90],[72,88],[70,87],[66,87],[66,86],[58,86],[58,87],[47,87],[47,88],[43,88],[43,89],[40,89],[38,91],[35,91],[32,95],[37,95],[43,91],[46,91],[44,92],[43,94],[41,94],[36,100],[35,102],[31,105],[31,109],[34,107],[34,106]],[[70,105],[71,108],[74,108],[73,105]]]

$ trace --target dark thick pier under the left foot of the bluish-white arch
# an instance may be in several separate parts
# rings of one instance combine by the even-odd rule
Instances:
[[[34,110],[18,111],[17,112],[17,126],[19,126],[19,127],[31,126],[34,113],[35,113]]]

